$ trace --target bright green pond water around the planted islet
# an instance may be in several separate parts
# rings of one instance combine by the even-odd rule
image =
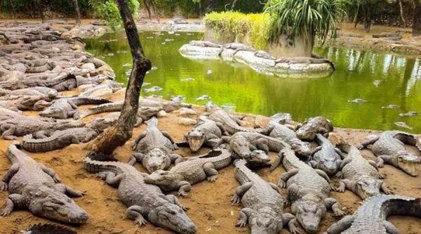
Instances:
[[[220,60],[189,60],[178,48],[203,34],[176,32],[140,32],[151,70],[142,96],[159,95],[170,99],[185,96],[184,102],[206,104],[196,98],[207,95],[214,103],[236,112],[273,115],[290,112],[302,121],[322,115],[335,126],[356,129],[401,129],[421,133],[421,116],[399,117],[410,110],[421,114],[420,60],[390,53],[359,51],[351,48],[316,48],[315,52],[335,63],[336,70],[324,78],[282,78],[255,72],[246,65]],[[111,41],[104,41],[111,40]],[[86,49],[105,60],[116,72],[116,79],[127,83],[131,54],[123,32],[86,40]],[[183,79],[193,78],[192,81]],[[373,82],[380,80],[380,85]],[[163,90],[145,92],[152,86]],[[363,98],[367,103],[348,103]],[[382,109],[389,104],[399,109]],[[413,130],[395,126],[406,122]]]

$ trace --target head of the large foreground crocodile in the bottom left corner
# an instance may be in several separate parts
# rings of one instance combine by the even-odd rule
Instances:
[[[46,186],[36,190],[29,210],[36,216],[66,223],[86,223],[89,217],[72,199]]]

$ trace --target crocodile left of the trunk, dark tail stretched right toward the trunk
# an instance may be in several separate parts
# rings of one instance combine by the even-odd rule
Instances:
[[[40,112],[39,115],[55,119],[77,118],[77,112],[79,111],[77,108],[78,105],[98,105],[103,103],[110,103],[110,101],[102,98],[60,98],[53,101],[53,104]]]

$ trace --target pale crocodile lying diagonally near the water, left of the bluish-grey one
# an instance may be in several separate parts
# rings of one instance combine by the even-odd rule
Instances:
[[[285,141],[298,155],[310,157],[312,155],[312,150],[310,150],[309,145],[297,137],[293,126],[289,124],[281,124],[281,122],[285,121],[284,115],[272,116],[267,126],[266,135]]]

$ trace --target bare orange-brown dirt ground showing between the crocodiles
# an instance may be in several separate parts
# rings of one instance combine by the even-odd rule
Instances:
[[[119,100],[123,98],[121,93],[114,93],[112,100]],[[72,92],[66,93],[67,95],[74,94]],[[87,107],[84,107],[87,108]],[[194,107],[200,113],[203,112],[202,107]],[[25,112],[27,115],[37,115],[36,112]],[[102,114],[106,115],[106,114]],[[91,119],[98,117],[94,115],[87,117],[84,121],[88,122]],[[180,116],[175,113],[170,113],[166,117],[159,118],[159,128],[168,131],[175,141],[181,141],[182,136],[191,129],[191,126],[184,126],[178,124]],[[253,116],[247,116],[246,122],[253,125]],[[138,136],[140,132],[145,129],[145,124],[135,128],[133,136]],[[375,131],[366,130],[353,130],[353,129],[335,129],[335,132],[343,136],[350,143],[359,143],[363,137],[375,133]],[[134,138],[134,137],[133,137]],[[131,143],[133,138],[128,141],[126,145],[116,150],[116,156],[119,160],[126,162],[132,154]],[[20,141],[21,139],[19,139]],[[6,150],[10,141],[0,140],[0,150]],[[62,182],[66,183],[73,188],[86,191],[84,197],[74,199],[83,209],[90,214],[88,223],[82,226],[74,226],[74,230],[79,233],[95,233],[95,234],[116,234],[116,233],[171,233],[168,230],[157,228],[151,224],[144,227],[138,227],[133,224],[133,221],[126,219],[126,207],[119,202],[117,190],[107,186],[105,182],[95,178],[95,175],[88,174],[81,167],[81,160],[86,150],[83,149],[83,144],[70,145],[62,150],[55,150],[46,153],[29,153],[37,162],[43,162],[48,167],[53,168]],[[314,145],[313,145],[314,146]],[[414,148],[410,148],[414,150]],[[199,153],[206,152],[206,149],[201,150]],[[188,157],[192,153],[187,148],[178,150],[180,155]],[[368,151],[363,150],[363,155],[367,158],[374,158],[374,155]],[[276,157],[275,153],[270,153],[272,159]],[[0,153],[0,175],[6,173],[6,170],[11,167],[10,162],[5,157],[4,153]],[[140,171],[145,169],[136,164]],[[269,169],[260,169],[256,171],[266,181],[276,183],[279,176],[284,172],[282,167],[279,167],[272,173]],[[391,166],[385,166],[381,169],[382,174],[386,174],[385,182],[394,193],[400,195],[408,195],[412,197],[421,197],[421,181],[418,177],[411,177],[403,173],[399,169]],[[232,206],[230,199],[234,194],[236,186],[239,186],[234,178],[234,167],[229,166],[220,171],[220,176],[215,183],[204,181],[202,183],[192,186],[192,192],[185,198],[180,198],[182,204],[187,205],[190,209],[188,211],[192,221],[196,223],[198,233],[249,233],[248,228],[236,228],[236,216],[241,209],[241,206]],[[286,190],[282,190],[285,195]],[[174,193],[175,194],[175,193]],[[0,193],[0,205],[4,205],[4,199],[8,193]],[[361,204],[359,197],[347,191],[345,193],[332,192],[331,195],[337,198],[345,207],[347,212],[352,214],[357,207]],[[288,211],[288,209],[286,209]],[[328,213],[325,219],[321,222],[319,233],[326,230],[338,218]],[[421,233],[421,219],[400,216],[391,217],[392,221],[401,233],[415,234]],[[51,221],[40,219],[33,216],[27,211],[16,211],[6,218],[0,218],[0,233],[18,233],[19,230],[24,230],[26,226],[33,223],[50,223]],[[288,233],[287,230],[282,230],[281,233]]]

